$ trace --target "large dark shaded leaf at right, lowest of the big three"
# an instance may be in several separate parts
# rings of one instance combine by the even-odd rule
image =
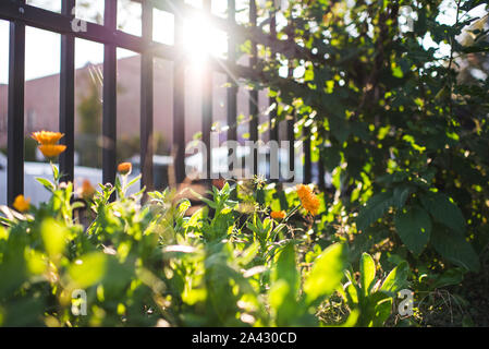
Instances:
[[[464,236],[441,225],[436,225],[431,232],[431,244],[442,257],[453,264],[470,272],[479,270],[479,257]]]

